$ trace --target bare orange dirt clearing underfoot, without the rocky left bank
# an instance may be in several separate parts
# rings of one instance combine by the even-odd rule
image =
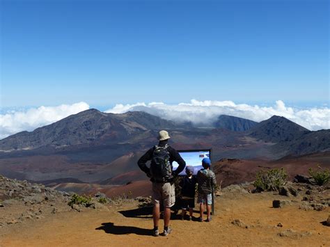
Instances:
[[[2,230],[0,246],[329,246],[330,228],[321,223],[327,220],[329,207],[304,211],[297,202],[274,209],[274,198],[283,197],[272,193],[218,197],[210,223],[173,219],[173,232],[167,237],[150,236],[151,215],[141,214],[138,202],[109,212],[63,212]],[[233,225],[235,219],[248,228]],[[162,230],[162,221],[159,226]],[[289,237],[278,235],[289,229],[293,231]]]

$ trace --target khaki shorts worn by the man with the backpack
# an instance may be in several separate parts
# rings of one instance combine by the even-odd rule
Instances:
[[[172,207],[175,203],[174,184],[167,183],[152,183],[152,203],[163,203],[164,207]]]

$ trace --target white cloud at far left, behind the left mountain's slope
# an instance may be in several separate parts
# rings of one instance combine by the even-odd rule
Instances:
[[[61,104],[61,106],[40,106],[26,111],[10,111],[0,114],[0,138],[5,138],[24,130],[31,131],[38,127],[49,125],[61,120],[68,115],[79,113],[89,109],[88,104],[79,102],[76,104]]]

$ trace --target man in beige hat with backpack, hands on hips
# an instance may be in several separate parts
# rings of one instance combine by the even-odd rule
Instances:
[[[138,165],[150,177],[152,182],[152,203],[154,204],[152,217],[154,222],[153,235],[159,236],[159,207],[160,203],[164,206],[164,232],[167,236],[171,233],[171,228],[168,227],[171,218],[171,207],[175,203],[175,188],[174,177],[184,170],[186,163],[180,154],[168,145],[168,132],[161,130],[159,132],[159,143],[150,148],[138,161]],[[146,166],[146,162],[150,162],[150,168]],[[179,166],[173,171],[172,163],[176,161]]]

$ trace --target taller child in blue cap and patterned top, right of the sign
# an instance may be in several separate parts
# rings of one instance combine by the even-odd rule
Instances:
[[[209,158],[204,158],[202,161],[203,169],[198,170],[198,203],[201,216],[199,221],[203,222],[204,203],[206,204],[207,219],[211,221],[211,205],[212,205],[212,187],[217,184],[215,174],[210,170],[211,161]]]

